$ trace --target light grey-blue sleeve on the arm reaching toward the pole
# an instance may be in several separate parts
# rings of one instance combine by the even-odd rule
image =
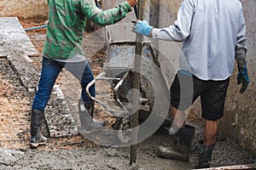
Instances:
[[[186,37],[189,37],[194,13],[195,1],[183,0],[178,9],[177,20],[174,25],[162,29],[154,28],[152,37],[166,41],[183,42]]]

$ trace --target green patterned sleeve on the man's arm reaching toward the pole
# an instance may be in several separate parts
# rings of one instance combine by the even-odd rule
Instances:
[[[94,0],[80,1],[80,7],[86,18],[100,26],[111,25],[125,18],[131,11],[129,3],[120,3],[119,6],[108,10],[101,10],[96,7]]]

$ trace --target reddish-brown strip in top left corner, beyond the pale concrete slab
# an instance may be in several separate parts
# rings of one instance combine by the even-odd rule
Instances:
[[[0,17],[47,17],[47,0],[1,0]]]

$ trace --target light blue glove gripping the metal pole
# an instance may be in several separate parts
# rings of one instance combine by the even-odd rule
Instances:
[[[137,20],[135,25],[132,27],[132,31],[135,33],[141,34],[143,36],[149,36],[150,31],[153,29],[153,26],[149,26],[146,20]]]

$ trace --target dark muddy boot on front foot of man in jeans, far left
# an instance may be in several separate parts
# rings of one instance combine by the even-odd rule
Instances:
[[[44,111],[31,112],[31,139],[30,147],[37,148],[38,145],[46,144],[47,139],[41,134],[41,128],[44,121]]]

